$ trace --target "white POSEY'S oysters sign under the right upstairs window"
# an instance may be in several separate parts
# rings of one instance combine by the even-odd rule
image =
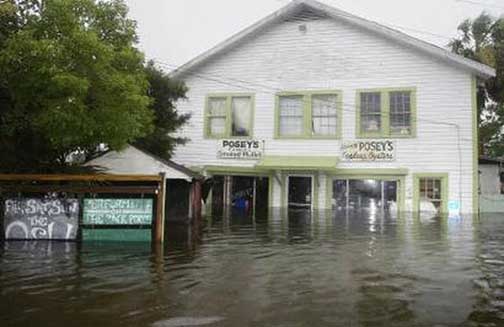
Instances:
[[[394,161],[396,144],[394,141],[351,141],[341,144],[344,161]]]

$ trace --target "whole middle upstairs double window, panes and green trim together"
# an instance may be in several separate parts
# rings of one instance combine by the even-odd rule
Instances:
[[[277,138],[338,138],[341,92],[299,92],[277,96]]]

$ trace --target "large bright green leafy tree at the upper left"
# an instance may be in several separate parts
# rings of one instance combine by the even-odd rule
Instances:
[[[136,24],[121,0],[0,4],[0,170],[51,172],[75,151],[153,130]]]

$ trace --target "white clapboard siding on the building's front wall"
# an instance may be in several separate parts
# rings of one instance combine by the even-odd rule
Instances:
[[[301,33],[299,24],[307,26]],[[205,96],[219,92],[255,94],[254,137],[266,140],[268,155],[339,155],[340,140],[274,140],[274,95],[279,91],[338,89],[343,92],[342,140],[355,139],[356,90],[416,87],[417,136],[397,140],[397,160],[341,163],[342,168],[408,168],[448,172],[451,200],[472,211],[472,76],[393,40],[334,19],[278,23],[186,74],[188,99],[178,110],[191,113],[180,132],[191,139],[174,160],[186,166],[253,166],[218,160],[217,140],[203,138]],[[219,82],[220,81],[220,82]],[[449,122],[460,126],[460,139]],[[459,150],[460,147],[460,150]],[[460,153],[459,153],[460,151]],[[412,178],[406,179],[411,199]],[[275,189],[276,190],[276,189]],[[275,192],[276,193],[276,192]],[[320,192],[320,202],[323,202]],[[275,202],[279,195],[275,194]]]

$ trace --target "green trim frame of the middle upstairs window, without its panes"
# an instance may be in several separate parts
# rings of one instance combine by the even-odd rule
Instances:
[[[336,96],[336,131],[333,135],[313,134],[313,108],[312,100],[317,95]],[[300,96],[303,99],[303,132],[301,134],[280,134],[280,98]],[[341,90],[318,90],[318,91],[287,91],[275,95],[275,139],[340,139],[342,135],[343,121],[343,92]]]

